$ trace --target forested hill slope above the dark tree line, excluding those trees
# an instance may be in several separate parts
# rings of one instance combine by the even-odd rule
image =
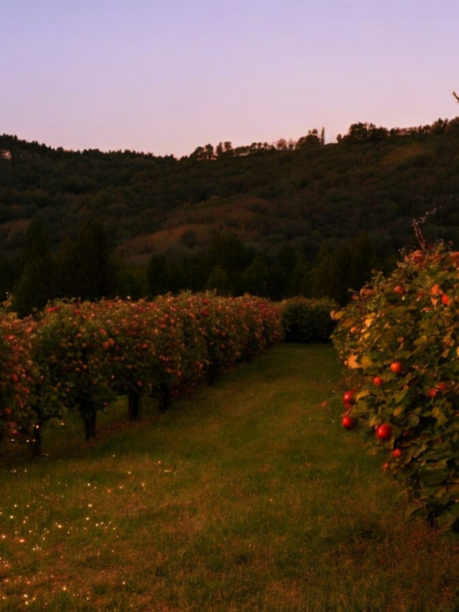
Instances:
[[[362,233],[384,257],[412,244],[412,220],[432,209],[427,239],[459,244],[458,204],[459,118],[415,129],[354,124],[335,144],[317,130],[296,142],[209,144],[181,159],[0,136],[0,256],[9,264],[32,218],[54,252],[98,218],[125,263],[143,266],[152,253],[196,258],[222,232],[269,264],[286,245],[313,264],[324,244],[333,251]]]

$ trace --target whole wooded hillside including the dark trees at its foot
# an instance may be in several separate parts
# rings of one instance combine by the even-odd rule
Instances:
[[[337,143],[206,144],[176,159],[0,136],[0,294],[27,315],[62,297],[182,289],[344,304],[416,244],[459,244],[459,118]]]

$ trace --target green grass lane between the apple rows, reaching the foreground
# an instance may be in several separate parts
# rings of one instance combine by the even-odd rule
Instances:
[[[283,345],[96,444],[48,433],[0,472],[0,610],[459,610],[458,540],[403,522],[340,375]]]

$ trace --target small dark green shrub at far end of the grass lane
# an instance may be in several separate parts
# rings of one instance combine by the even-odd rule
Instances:
[[[292,297],[283,300],[282,321],[288,342],[328,342],[336,323],[330,311],[337,304],[330,299]]]

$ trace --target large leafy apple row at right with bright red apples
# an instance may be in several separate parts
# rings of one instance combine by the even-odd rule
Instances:
[[[349,368],[343,427],[360,431],[405,488],[408,515],[459,524],[459,252],[405,253],[344,310],[334,343]]]

